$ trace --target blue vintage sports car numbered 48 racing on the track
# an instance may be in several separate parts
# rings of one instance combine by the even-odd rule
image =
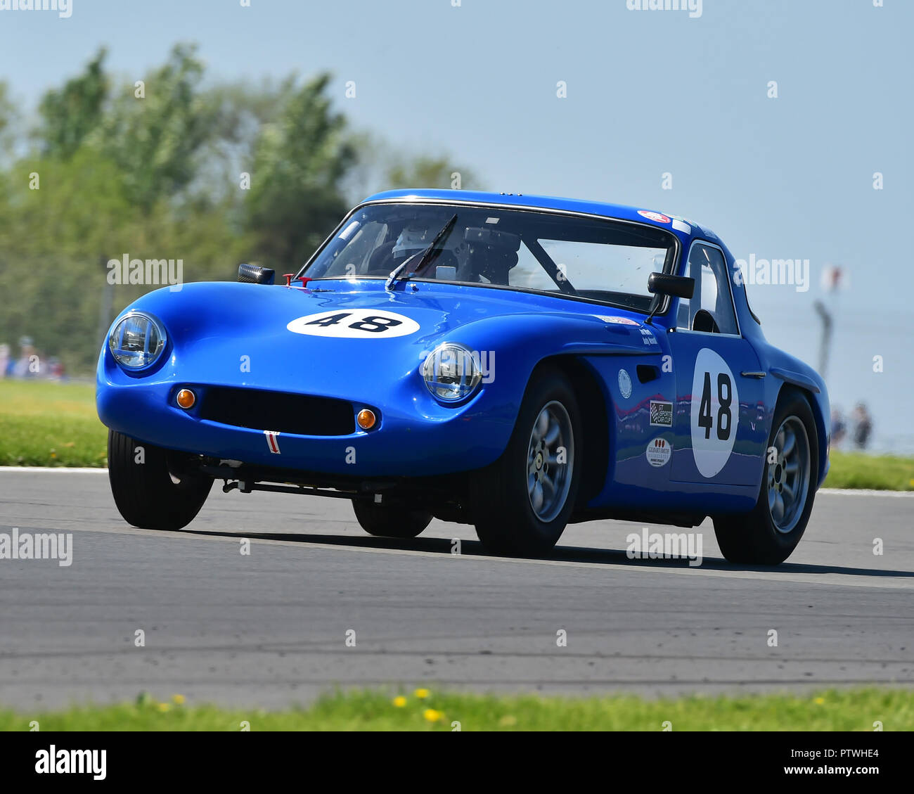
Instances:
[[[151,530],[222,480],[351,499],[373,535],[471,523],[494,553],[711,517],[729,561],[777,564],[828,471],[824,381],[766,341],[717,235],[570,199],[373,196],[296,274],[134,301],[97,402],[114,500]]]

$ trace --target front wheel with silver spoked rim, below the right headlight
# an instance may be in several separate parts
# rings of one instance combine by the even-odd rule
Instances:
[[[568,524],[581,469],[578,401],[558,370],[527,386],[505,453],[470,475],[476,534],[494,553],[548,552]]]

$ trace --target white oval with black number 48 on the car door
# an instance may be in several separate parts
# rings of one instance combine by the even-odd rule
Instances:
[[[692,454],[702,477],[714,477],[730,458],[739,424],[736,379],[714,350],[702,348],[692,379]]]

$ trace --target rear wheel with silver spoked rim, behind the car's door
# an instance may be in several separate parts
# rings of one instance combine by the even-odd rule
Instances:
[[[777,565],[786,560],[806,530],[818,473],[818,436],[809,402],[797,392],[784,392],[771,423],[755,510],[714,519],[717,544],[728,562]]]

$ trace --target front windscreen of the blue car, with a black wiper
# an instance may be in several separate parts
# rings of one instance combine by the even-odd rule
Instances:
[[[434,243],[434,244],[432,244]],[[672,234],[617,220],[459,204],[357,209],[309,264],[309,278],[479,284],[647,312],[647,279],[670,272]]]

